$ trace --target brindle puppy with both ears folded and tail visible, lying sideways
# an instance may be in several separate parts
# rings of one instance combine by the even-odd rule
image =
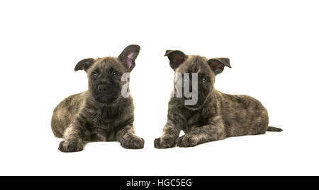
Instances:
[[[196,146],[218,141],[228,136],[262,134],[282,131],[268,126],[267,109],[247,95],[228,95],[213,88],[215,76],[225,66],[231,67],[228,58],[206,59],[188,56],[181,51],[167,50],[165,56],[175,71],[174,97],[169,100],[167,124],[162,136],[154,141],[155,148]],[[177,97],[177,73],[198,73],[198,100],[195,105],[185,105],[189,97]],[[183,82],[184,83],[184,82]],[[179,137],[183,130],[184,136]]]

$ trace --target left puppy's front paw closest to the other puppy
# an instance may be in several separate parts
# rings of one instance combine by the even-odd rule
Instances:
[[[127,125],[116,133],[116,139],[123,148],[140,149],[144,147],[144,139],[135,135],[133,126]]]

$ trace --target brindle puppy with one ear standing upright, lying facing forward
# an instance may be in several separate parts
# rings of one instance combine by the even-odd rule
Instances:
[[[123,148],[143,148],[144,140],[135,136],[133,128],[133,99],[121,95],[127,83],[121,76],[132,71],[139,52],[138,45],[130,45],[117,58],[79,61],[74,71],[86,71],[89,90],[67,97],[55,108],[52,131],[65,138],[59,150],[80,151],[83,141],[119,141]]]

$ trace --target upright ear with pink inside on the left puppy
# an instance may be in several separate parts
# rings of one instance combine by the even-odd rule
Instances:
[[[140,53],[140,46],[136,44],[129,45],[125,47],[123,52],[118,56],[118,60],[122,62],[127,71],[132,71],[135,67],[135,59]]]

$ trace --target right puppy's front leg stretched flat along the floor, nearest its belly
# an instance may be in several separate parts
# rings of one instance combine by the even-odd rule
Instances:
[[[226,137],[225,127],[223,125],[208,124],[198,126],[184,136],[177,139],[177,146],[191,147],[201,143],[222,140]]]

